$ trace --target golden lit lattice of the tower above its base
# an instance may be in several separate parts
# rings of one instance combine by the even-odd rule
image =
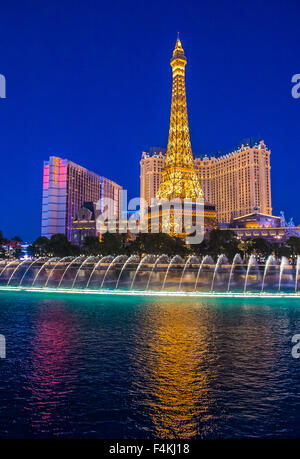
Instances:
[[[203,191],[194,166],[185,91],[187,59],[179,37],[170,61],[173,73],[169,140],[165,168],[156,195],[162,199],[203,198]]]

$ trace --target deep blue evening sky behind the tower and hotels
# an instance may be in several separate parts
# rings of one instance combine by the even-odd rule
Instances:
[[[272,150],[273,212],[300,223],[299,0],[0,4],[0,229],[40,234],[42,164],[77,162],[139,195],[139,160],[166,146],[177,31],[194,154],[247,137]],[[297,183],[298,181],[298,183]]]

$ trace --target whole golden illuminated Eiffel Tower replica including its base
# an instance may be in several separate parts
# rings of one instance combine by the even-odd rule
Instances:
[[[173,86],[168,148],[156,202],[148,208],[147,226],[150,232],[186,237],[188,220],[194,225],[202,216],[204,221],[204,200],[191,148],[185,91],[187,59],[179,37],[170,64]]]

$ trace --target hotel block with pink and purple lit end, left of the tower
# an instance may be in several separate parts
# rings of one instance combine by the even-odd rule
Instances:
[[[63,233],[71,240],[73,220],[88,201],[101,203],[111,198],[111,216],[117,218],[121,190],[117,183],[68,159],[50,156],[43,171],[42,236]]]

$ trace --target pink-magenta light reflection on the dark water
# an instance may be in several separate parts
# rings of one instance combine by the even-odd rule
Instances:
[[[25,407],[31,428],[39,434],[55,434],[60,420],[67,424],[70,415],[68,398],[76,383],[77,318],[63,302],[49,308],[47,302],[34,317],[31,362],[27,369],[26,390],[31,393]],[[62,425],[58,430],[61,433]]]

